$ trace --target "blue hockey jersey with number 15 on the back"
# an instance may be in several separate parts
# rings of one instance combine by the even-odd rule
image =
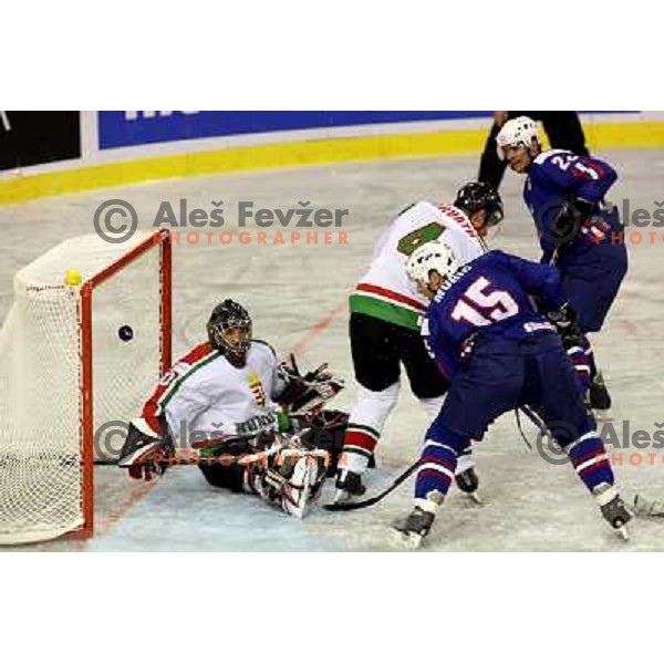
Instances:
[[[531,297],[546,310],[560,309],[566,298],[559,271],[502,251],[480,256],[447,279],[422,324],[427,349],[443,373],[454,376],[471,341],[556,334]]]

